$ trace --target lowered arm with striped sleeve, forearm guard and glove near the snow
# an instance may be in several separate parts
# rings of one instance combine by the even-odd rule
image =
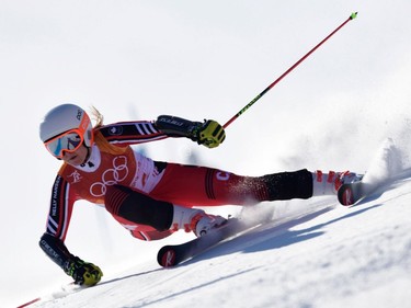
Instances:
[[[57,175],[50,199],[47,230],[39,240],[39,247],[76,284],[94,285],[103,275],[92,263],[71,254],[64,243],[71,217],[75,196],[67,181]]]

